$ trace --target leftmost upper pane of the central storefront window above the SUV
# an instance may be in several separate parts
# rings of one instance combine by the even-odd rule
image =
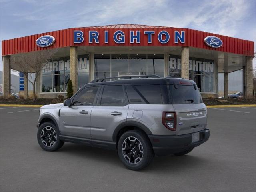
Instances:
[[[110,71],[110,54],[94,54],[94,71]]]

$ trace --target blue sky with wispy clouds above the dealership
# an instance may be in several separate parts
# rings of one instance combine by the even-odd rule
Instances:
[[[129,23],[242,38],[254,41],[256,50],[255,10],[256,0],[0,0],[0,40],[72,27]]]

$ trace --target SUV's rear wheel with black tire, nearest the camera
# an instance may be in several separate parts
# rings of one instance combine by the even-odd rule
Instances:
[[[130,170],[141,170],[147,167],[154,152],[147,135],[140,130],[124,132],[118,141],[118,156]]]

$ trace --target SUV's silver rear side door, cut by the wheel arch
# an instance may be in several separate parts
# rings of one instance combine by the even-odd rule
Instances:
[[[97,106],[92,108],[91,137],[112,141],[115,128],[126,122],[128,99],[124,85],[105,85],[100,92]]]

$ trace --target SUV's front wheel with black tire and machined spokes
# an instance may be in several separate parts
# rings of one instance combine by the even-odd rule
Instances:
[[[59,138],[60,132],[53,122],[44,122],[37,131],[37,141],[46,151],[56,151],[64,144]]]

